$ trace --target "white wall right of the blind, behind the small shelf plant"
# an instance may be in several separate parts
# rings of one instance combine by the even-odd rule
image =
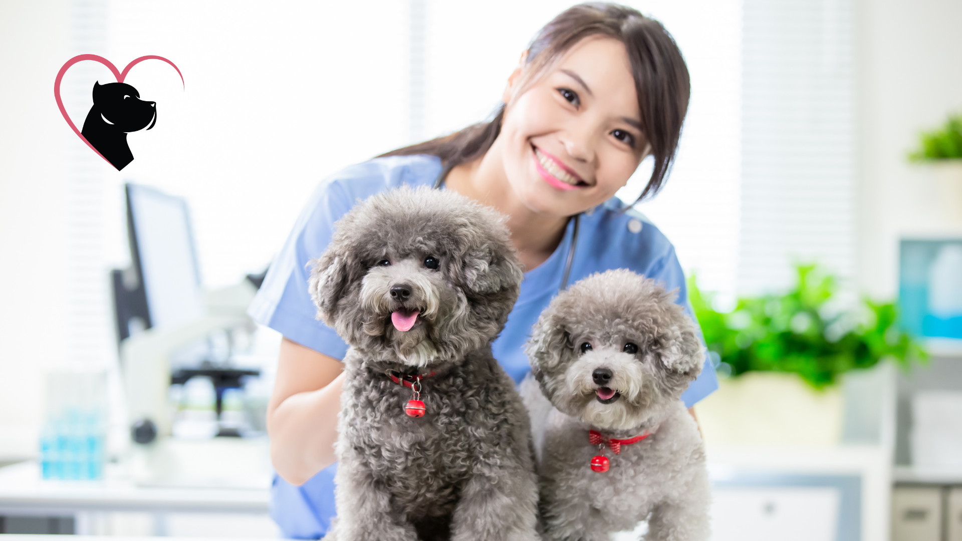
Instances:
[[[921,130],[962,111],[962,2],[861,0],[859,282],[898,294],[899,238],[962,236],[932,171],[907,163]]]

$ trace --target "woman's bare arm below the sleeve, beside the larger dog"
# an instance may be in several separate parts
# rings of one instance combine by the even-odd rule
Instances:
[[[281,341],[267,434],[274,470],[291,484],[304,484],[337,461],[342,382],[341,361],[287,338]]]

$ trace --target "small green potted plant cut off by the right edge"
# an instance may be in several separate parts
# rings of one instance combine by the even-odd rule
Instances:
[[[922,132],[909,161],[932,169],[939,203],[951,219],[962,220],[962,113],[940,128]]]

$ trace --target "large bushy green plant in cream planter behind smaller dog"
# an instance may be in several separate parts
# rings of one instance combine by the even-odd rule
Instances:
[[[895,304],[863,298],[844,307],[833,276],[814,265],[796,271],[788,292],[741,297],[729,311],[690,278],[692,308],[722,376],[697,408],[706,440],[836,444],[843,374],[882,359],[907,368],[927,358],[899,329]]]

